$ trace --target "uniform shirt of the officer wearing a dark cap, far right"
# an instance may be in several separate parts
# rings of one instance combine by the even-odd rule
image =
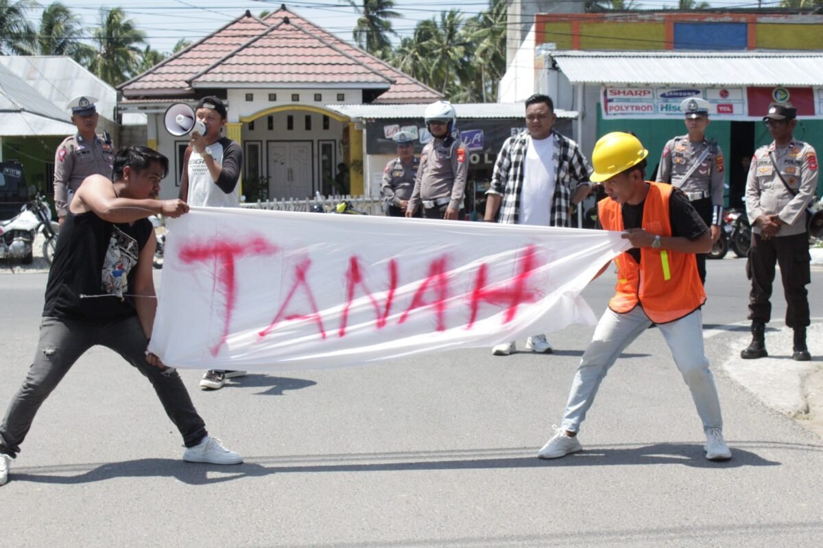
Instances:
[[[770,154],[774,154],[774,163]],[[783,185],[781,175],[794,192]],[[817,176],[817,154],[802,140],[785,147],[775,147],[773,141],[757,149],[746,180],[746,214],[752,230],[760,233],[755,224],[760,215],[778,214],[783,224],[777,236],[806,232],[806,209],[814,200]]]

